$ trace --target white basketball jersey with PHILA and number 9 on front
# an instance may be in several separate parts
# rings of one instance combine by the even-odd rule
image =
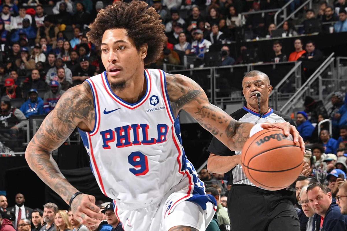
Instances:
[[[181,146],[165,73],[145,69],[144,74],[146,94],[134,104],[113,93],[105,72],[87,79],[93,92],[95,126],[91,132],[79,130],[100,189],[118,207],[128,209],[158,201],[194,169]],[[193,178],[197,182],[196,172],[189,180],[192,186]],[[204,187],[201,181],[197,184]]]

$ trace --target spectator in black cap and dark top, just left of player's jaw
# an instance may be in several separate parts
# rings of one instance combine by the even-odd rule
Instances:
[[[87,56],[80,57],[79,66],[74,70],[72,77],[74,86],[97,74],[95,66],[90,65],[89,58]]]

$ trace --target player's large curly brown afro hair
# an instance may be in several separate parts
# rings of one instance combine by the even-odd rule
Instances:
[[[126,29],[128,37],[135,43],[138,51],[141,45],[147,44],[145,65],[159,59],[167,39],[160,15],[146,2],[138,0],[130,3],[117,1],[113,6],[102,9],[89,28],[88,40],[96,46],[101,45],[102,36],[106,30]]]

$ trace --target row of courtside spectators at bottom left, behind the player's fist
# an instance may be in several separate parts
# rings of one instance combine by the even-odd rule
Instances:
[[[24,195],[18,193],[15,205],[8,207],[6,196],[0,195],[0,231],[124,231],[113,203],[98,201],[99,213],[104,217],[92,227],[79,223],[71,208],[59,210],[56,204],[46,203],[32,209],[24,203]]]

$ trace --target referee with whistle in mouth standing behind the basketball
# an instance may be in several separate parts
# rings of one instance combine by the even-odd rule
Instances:
[[[242,80],[247,106],[230,116],[240,122],[278,123],[293,120],[269,108],[272,91],[268,75],[250,71]],[[232,169],[232,187],[228,195],[228,214],[232,231],[300,231],[298,215],[294,208],[295,193],[286,189],[269,191],[255,187],[245,176],[241,166],[241,152],[230,151],[218,139],[212,139],[207,168],[210,173],[226,173]],[[302,174],[309,175],[305,162]]]

